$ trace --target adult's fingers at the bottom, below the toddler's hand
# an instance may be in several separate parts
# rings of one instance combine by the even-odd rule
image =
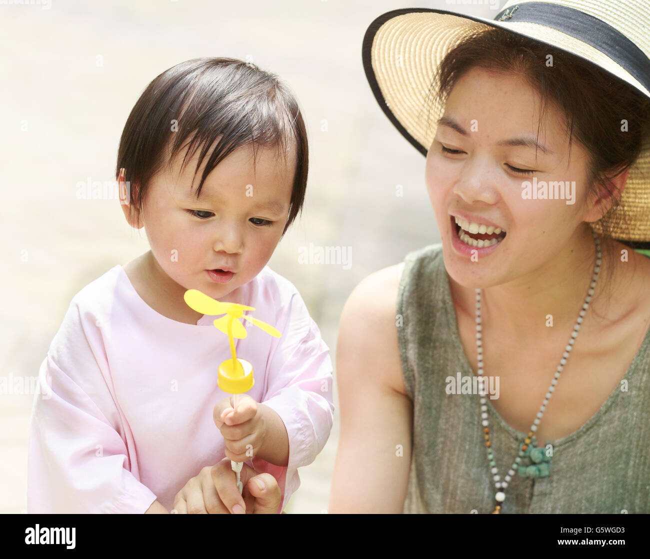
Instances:
[[[271,474],[258,474],[248,464],[240,473],[244,486],[239,495],[229,458],[206,466],[191,478],[174,498],[177,514],[275,514],[282,499],[278,481]],[[261,482],[264,488],[259,486]]]

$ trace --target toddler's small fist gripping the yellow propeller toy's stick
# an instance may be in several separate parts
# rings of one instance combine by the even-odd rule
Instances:
[[[266,421],[257,402],[246,394],[239,395],[237,411],[233,409],[233,396],[220,400],[214,406],[214,424],[226,443],[226,456],[235,462],[245,462],[262,447],[266,437]]]

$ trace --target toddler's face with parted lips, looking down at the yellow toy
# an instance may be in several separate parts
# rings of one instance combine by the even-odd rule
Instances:
[[[198,152],[180,173],[181,151],[171,172],[162,171],[149,182],[142,222],[155,260],[182,292],[198,289],[227,301],[228,294],[259,274],[275,250],[289,215],[295,154],[285,169],[274,148],[256,151],[254,170],[250,146],[228,155],[205,179],[199,200],[196,190],[208,157],[193,178]],[[214,268],[234,274],[218,283],[207,272]]]

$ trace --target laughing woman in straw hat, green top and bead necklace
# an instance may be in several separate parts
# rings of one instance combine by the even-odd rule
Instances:
[[[330,512],[650,512],[649,23],[565,0],[370,25],[441,243],[343,309]]]

